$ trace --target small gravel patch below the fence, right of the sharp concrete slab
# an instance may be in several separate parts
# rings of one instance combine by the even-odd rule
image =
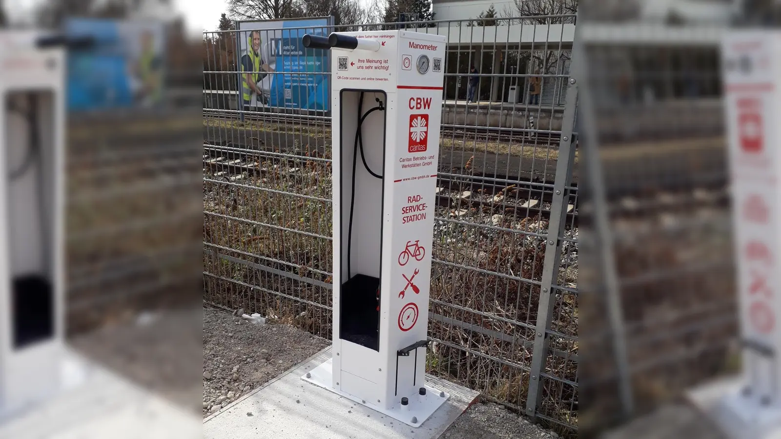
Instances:
[[[523,416],[490,402],[475,404],[455,420],[442,439],[555,439]]]

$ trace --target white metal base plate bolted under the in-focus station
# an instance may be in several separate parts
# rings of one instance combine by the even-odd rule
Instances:
[[[448,401],[448,398],[450,398],[450,395],[444,391],[433,389],[426,385],[426,395],[423,398],[419,398],[419,395],[414,395],[412,398],[409,398],[408,409],[402,409],[401,404],[394,405],[391,409],[385,409],[379,405],[373,405],[368,401],[363,401],[361,398],[356,398],[351,394],[333,388],[332,362],[333,359],[328,359],[328,361],[323,362],[320,366],[312,369],[312,372],[307,373],[301,377],[301,379],[308,383],[315,384],[317,387],[323,387],[327,391],[332,391],[341,397],[348,398],[353,402],[365,405],[375,412],[380,412],[385,416],[397,419],[410,427],[420,427],[423,425],[423,423],[426,422],[426,419],[429,419],[429,417],[433,415],[444,402]],[[440,396],[440,394],[443,394],[443,396]],[[415,418],[416,422],[412,422],[412,418]]]

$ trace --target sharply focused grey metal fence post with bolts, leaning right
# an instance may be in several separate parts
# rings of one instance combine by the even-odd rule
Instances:
[[[572,59],[579,55],[572,51]],[[559,237],[566,223],[569,187],[572,180],[572,166],[575,161],[575,141],[572,138],[575,126],[575,110],[578,99],[578,80],[570,76],[567,81],[567,96],[562,119],[562,136],[558,143],[558,161],[553,184],[551,201],[551,219],[548,222],[545,240],[545,259],[540,281],[540,303],[537,306],[537,327],[534,330],[534,344],[529,380],[529,394],[526,399],[526,415],[537,416],[537,408],[542,398],[540,373],[545,369],[547,359],[547,331],[551,326],[551,314],[555,305],[555,289],[558,285],[559,262],[562,255],[562,243]]]

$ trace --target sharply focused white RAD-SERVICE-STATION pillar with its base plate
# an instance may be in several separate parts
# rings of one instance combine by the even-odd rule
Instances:
[[[331,49],[333,115],[333,357],[303,379],[419,427],[450,396],[425,378],[446,38],[303,43]]]

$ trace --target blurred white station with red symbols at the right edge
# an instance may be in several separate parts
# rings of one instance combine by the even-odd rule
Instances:
[[[734,438],[781,438],[781,33],[722,41],[742,372],[690,392]]]

